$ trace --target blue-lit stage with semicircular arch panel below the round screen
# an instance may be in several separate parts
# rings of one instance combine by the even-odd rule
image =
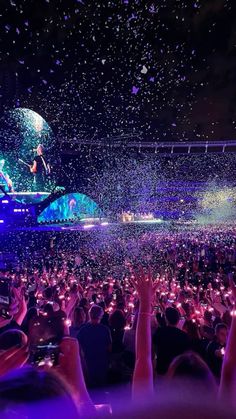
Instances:
[[[57,187],[49,192],[0,194],[0,225],[5,229],[40,228],[59,223],[103,218],[103,212],[89,196]],[[54,228],[54,227],[52,227]]]

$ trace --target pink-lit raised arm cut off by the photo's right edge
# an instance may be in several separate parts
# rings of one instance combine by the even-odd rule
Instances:
[[[236,286],[232,276],[229,278],[232,290],[232,298],[236,303]],[[219,397],[227,398],[234,405],[236,404],[236,307],[232,311],[232,322],[230,326],[228,341],[225,349]]]

